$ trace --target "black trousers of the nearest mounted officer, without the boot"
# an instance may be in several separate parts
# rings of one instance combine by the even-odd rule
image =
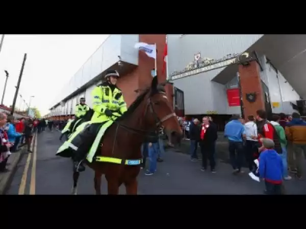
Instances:
[[[100,129],[100,123],[93,123],[89,127],[85,128],[71,141],[71,144],[78,147],[73,157],[74,161],[80,162],[85,158],[88,151],[90,150],[95,137]]]

